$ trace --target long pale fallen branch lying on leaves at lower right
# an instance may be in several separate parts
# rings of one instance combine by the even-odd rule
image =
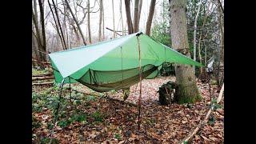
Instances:
[[[217,104],[218,104],[219,102],[221,102],[223,92],[224,92],[224,83],[223,83],[223,85],[222,85],[222,89],[221,89],[220,93],[218,94]],[[188,141],[190,140],[190,138],[193,138],[193,137],[194,137],[194,134],[197,134],[197,133],[198,133],[198,130],[200,130],[200,128],[202,128],[202,126],[204,126],[204,125],[208,122],[208,119],[209,119],[210,114],[211,114],[211,112],[212,112],[213,109],[214,109],[214,104],[210,107],[210,110],[209,110],[208,113],[206,114],[206,118],[204,118],[204,120],[203,120],[202,122],[200,122],[198,126],[196,126],[196,128],[193,130],[193,132],[190,133],[190,135],[189,135],[188,137],[186,137],[186,138],[185,138],[182,142],[180,142],[180,143],[184,144],[184,143],[188,142]]]

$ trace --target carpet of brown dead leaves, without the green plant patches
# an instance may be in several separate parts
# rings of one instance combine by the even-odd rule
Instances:
[[[178,143],[182,138],[186,138],[191,130],[194,130],[194,126],[197,126],[200,120],[205,118],[209,110],[207,102],[210,102],[210,95],[207,84],[198,82],[198,89],[200,94],[202,94],[203,100],[191,105],[190,109],[184,105],[175,103],[170,106],[160,106],[156,91],[162,83],[170,81],[171,78],[159,77],[144,79],[142,81],[142,133],[136,132],[138,127],[136,123],[138,122],[138,109],[136,106],[129,106],[126,103],[116,102],[106,98],[95,98],[94,102],[90,102],[90,106],[80,105],[77,107],[78,110],[82,110],[88,114],[87,124],[74,122],[63,129],[56,126],[54,128],[54,137],[61,143],[136,143],[137,139],[139,139],[139,143]],[[93,92],[86,88],[86,86],[74,86],[78,87],[78,89],[76,88],[77,90],[82,90],[86,93]],[[212,87],[214,90],[216,86]],[[138,91],[139,88],[137,87],[136,90],[136,85],[131,86],[130,96],[126,99],[126,102],[137,104]],[[116,91],[113,94],[108,92],[108,96],[122,100],[121,93],[121,91]],[[65,95],[65,93],[63,94]],[[213,91],[213,95],[216,96],[218,94]],[[223,102],[221,105],[223,105]],[[216,110],[216,114],[214,114],[216,118],[214,126],[206,124],[206,126],[202,127],[202,137],[196,134],[193,138],[194,143],[224,141],[223,107]],[[74,107],[71,106],[70,109],[66,111],[68,116],[70,116],[72,109],[74,111]],[[94,122],[94,118],[90,117],[97,110],[101,114],[106,114],[102,122]],[[52,111],[44,110],[40,113],[34,112],[33,115],[38,121],[42,122],[42,126],[34,130],[33,134],[36,134],[37,137],[49,135],[50,131],[47,130],[47,124],[53,118]],[[129,134],[126,134],[126,131],[130,131]],[[114,134],[118,134],[119,136],[115,136]],[[120,137],[122,141],[118,142],[115,137]]]

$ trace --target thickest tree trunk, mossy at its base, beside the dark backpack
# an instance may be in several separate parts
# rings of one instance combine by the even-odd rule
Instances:
[[[170,0],[170,38],[172,47],[190,58],[186,28],[186,0]],[[201,99],[192,66],[175,66],[177,90],[175,101],[192,103]]]

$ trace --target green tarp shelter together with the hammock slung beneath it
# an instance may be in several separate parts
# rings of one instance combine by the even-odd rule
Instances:
[[[138,34],[138,33],[137,33]],[[141,47],[142,77],[154,78],[163,62],[202,66],[177,51],[138,36]],[[96,91],[129,89],[139,81],[136,34],[49,54],[55,82],[80,82]]]

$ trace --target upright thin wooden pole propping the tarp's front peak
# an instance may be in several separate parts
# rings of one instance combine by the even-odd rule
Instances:
[[[141,46],[139,42],[139,35],[137,35],[138,41],[138,60],[139,60],[139,98],[138,98],[138,130],[140,130],[140,115],[141,115],[141,98],[142,98],[142,60],[141,60]]]

